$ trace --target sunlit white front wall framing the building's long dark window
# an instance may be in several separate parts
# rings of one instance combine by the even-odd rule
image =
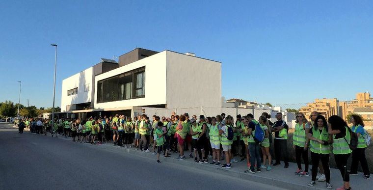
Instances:
[[[107,103],[97,103],[97,81],[145,66],[145,97]],[[143,58],[96,76],[94,108],[119,108],[166,104],[166,51]]]

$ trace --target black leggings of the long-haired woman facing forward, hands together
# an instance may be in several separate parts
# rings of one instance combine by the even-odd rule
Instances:
[[[316,181],[318,174],[319,161],[321,160],[322,167],[324,168],[326,183],[330,183],[330,168],[329,168],[330,154],[317,154],[311,152],[312,160],[312,181]]]

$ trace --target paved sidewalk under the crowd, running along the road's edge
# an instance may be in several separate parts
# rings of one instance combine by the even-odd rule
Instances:
[[[49,135],[50,136],[50,135]],[[65,138],[59,136],[59,138],[55,139],[64,139],[64,140],[71,140],[71,138]],[[77,145],[84,145],[84,146],[94,146],[99,149],[108,149],[113,150],[115,152],[124,152],[127,154],[131,154],[134,156],[138,156],[139,158],[147,158],[154,160],[156,163],[156,155],[150,153],[141,152],[140,150],[136,150],[134,148],[124,148],[119,146],[113,146],[112,143],[104,143],[101,145],[91,145],[87,143],[79,143]],[[186,154],[187,156],[187,154]],[[219,173],[222,175],[228,175],[234,178],[240,178],[243,180],[254,181],[262,184],[271,185],[278,188],[288,189],[288,190],[325,190],[325,182],[316,182],[314,187],[308,187],[307,184],[311,181],[311,168],[312,165],[309,166],[309,173],[310,176],[308,177],[301,177],[295,175],[294,172],[296,170],[296,163],[290,163],[289,168],[284,168],[284,164],[279,166],[272,166],[272,171],[266,171],[262,169],[261,173],[255,174],[246,174],[244,170],[247,169],[246,160],[238,163],[232,163],[232,168],[224,169],[221,166],[213,166],[209,165],[208,163],[195,163],[194,159],[187,158],[183,161],[178,161],[176,158],[178,157],[178,153],[173,153],[171,157],[164,158],[160,156],[160,164],[166,163],[174,163],[174,164],[181,164],[186,167],[192,167],[193,169],[203,170],[203,171],[211,171],[215,173]],[[236,158],[236,160],[240,160],[240,158]],[[211,159],[209,160],[211,161]],[[221,161],[221,163],[225,163],[225,161]],[[302,164],[302,167],[304,165]],[[330,184],[333,186],[333,189],[339,188],[342,186],[342,177],[338,169],[331,168],[331,176],[330,176]],[[350,175],[350,185],[351,188],[354,190],[369,190],[373,187],[372,179],[365,179],[363,173],[359,172],[359,175],[352,176]]]

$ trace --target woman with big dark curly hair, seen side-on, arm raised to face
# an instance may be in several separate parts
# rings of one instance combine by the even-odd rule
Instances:
[[[347,172],[347,160],[351,154],[348,144],[351,140],[351,130],[347,123],[337,115],[328,119],[328,133],[333,135],[333,154],[338,169],[343,178],[343,187],[337,190],[350,190],[349,175]],[[324,168],[325,169],[325,168]]]

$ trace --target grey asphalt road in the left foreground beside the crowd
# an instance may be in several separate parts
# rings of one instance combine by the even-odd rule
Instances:
[[[177,163],[156,163],[156,157],[131,155],[111,145],[18,134],[16,128],[0,123],[0,189],[276,188]]]

